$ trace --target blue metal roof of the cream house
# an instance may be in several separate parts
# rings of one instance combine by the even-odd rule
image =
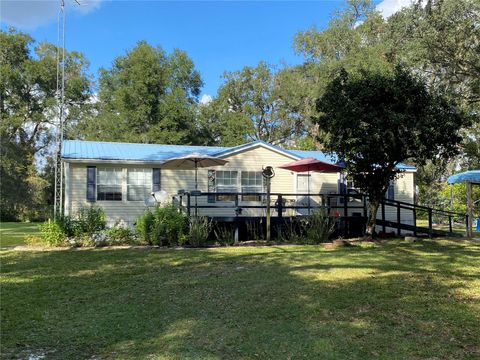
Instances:
[[[164,161],[192,152],[199,152],[210,156],[221,156],[257,144],[263,144],[286,155],[293,156],[294,158],[302,159],[313,157],[332,164],[337,161],[335,155],[327,155],[321,151],[285,150],[264,141],[254,141],[233,147],[220,147],[65,140],[62,146],[62,158],[77,160]],[[397,167],[401,170],[415,170],[414,166],[406,164],[399,164]]]

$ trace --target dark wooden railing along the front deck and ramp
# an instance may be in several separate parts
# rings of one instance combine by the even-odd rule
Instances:
[[[230,197],[231,201],[216,200],[218,197]],[[257,197],[259,201],[242,201],[244,197]],[[199,201],[200,199],[200,201]],[[211,200],[210,202],[208,199]],[[224,221],[233,221],[245,216],[244,209],[266,210],[267,194],[257,192],[181,192],[174,196],[174,202],[188,216],[205,209],[233,210],[234,215],[208,215]],[[318,202],[316,200],[319,200]],[[284,217],[297,217],[311,214],[323,209],[329,216],[338,217],[344,223],[349,221],[364,221],[364,227],[368,216],[368,196],[360,193],[349,194],[318,194],[318,193],[271,193],[270,208],[272,217],[282,219]],[[409,215],[410,214],[410,215]],[[258,216],[258,215],[257,215]],[[263,215],[264,216],[264,215]],[[427,226],[418,226],[417,220],[426,218]],[[409,220],[405,220],[408,218]],[[436,222],[434,222],[434,219]],[[433,209],[427,206],[411,204],[399,200],[383,199],[377,213],[377,224],[386,233],[387,228],[395,229],[397,235],[402,230],[409,230],[415,236],[425,233],[430,237],[445,234],[454,234],[455,225],[461,222],[467,226],[466,214]],[[442,229],[435,227],[442,224]]]

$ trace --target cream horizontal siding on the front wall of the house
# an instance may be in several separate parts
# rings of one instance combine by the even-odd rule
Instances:
[[[225,157],[228,163],[225,166],[217,166],[212,168],[200,168],[198,169],[198,189],[201,191],[207,191],[208,189],[208,170],[235,170],[235,171],[262,171],[265,166],[273,166],[275,169],[275,177],[272,179],[272,192],[291,194],[296,193],[297,174],[289,170],[278,168],[280,165],[284,165],[288,162],[294,161],[294,157],[287,156],[272,149],[258,145],[253,148],[249,148],[244,151],[234,153]],[[172,198],[177,191],[193,190],[195,188],[195,172],[194,170],[177,170],[162,168],[161,164],[125,164],[123,162],[109,162],[109,163],[75,163],[71,162],[69,166],[65,167],[66,181],[68,184],[65,187],[66,201],[65,211],[66,213],[74,214],[81,207],[89,206],[90,203],[86,201],[86,174],[87,166],[96,166],[97,169],[106,167],[121,167],[123,168],[123,188],[122,188],[122,201],[96,201],[94,204],[101,206],[108,219],[108,224],[113,225],[115,222],[125,222],[129,225],[133,225],[135,219],[141,215],[146,205],[143,201],[127,201],[127,169],[129,168],[161,168],[161,190],[165,190],[169,198]],[[312,186],[311,193],[338,193],[338,173],[311,173]],[[98,180],[98,179],[97,179]],[[291,201],[300,200],[300,197],[286,196]],[[407,202],[413,202],[413,174],[405,173],[395,184],[395,199]],[[184,200],[185,201],[185,200]],[[192,205],[195,203],[192,197]],[[305,203],[305,202],[304,202]],[[312,197],[312,205],[320,203],[320,197]],[[185,204],[185,202],[184,202]],[[242,202],[240,202],[240,205]],[[256,205],[259,203],[257,202]],[[198,205],[215,205],[215,206],[232,206],[232,202],[219,202],[216,201],[213,204],[207,202],[205,196],[198,198]],[[353,210],[355,211],[355,210]],[[358,211],[362,211],[359,209]],[[351,215],[351,212],[349,215]],[[341,211],[340,211],[341,213]],[[234,216],[234,209],[199,209],[199,214],[210,216]],[[244,209],[242,216],[261,216],[264,215],[264,210],[260,209]],[[273,215],[276,216],[276,212],[273,211]],[[293,210],[285,213],[285,215],[293,215]],[[396,219],[396,212],[389,212],[388,216],[393,216],[392,219]],[[411,219],[408,214],[402,212],[402,219]]]

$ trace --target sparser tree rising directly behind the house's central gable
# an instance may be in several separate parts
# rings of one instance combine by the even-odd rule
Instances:
[[[225,83],[209,104],[218,143],[238,145],[252,140],[282,144],[304,131],[304,122],[286,106],[284,78],[264,62],[225,73]],[[215,119],[215,120],[214,120]]]

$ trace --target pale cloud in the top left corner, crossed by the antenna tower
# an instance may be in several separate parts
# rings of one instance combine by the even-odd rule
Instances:
[[[102,0],[65,0],[68,13],[75,11],[87,14],[97,9]],[[34,29],[51,21],[56,21],[60,9],[60,0],[2,0],[0,1],[0,20],[2,23],[22,29]]]

